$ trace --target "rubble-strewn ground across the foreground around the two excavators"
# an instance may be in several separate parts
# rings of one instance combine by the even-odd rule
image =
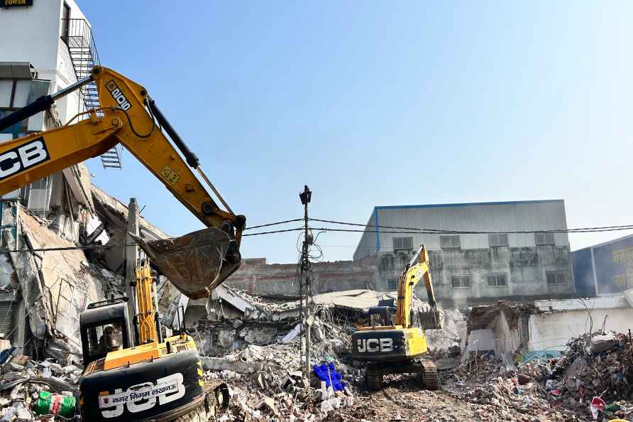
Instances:
[[[444,330],[427,330],[431,344],[439,346],[425,357],[439,367],[439,391],[422,389],[411,374],[387,375],[382,389],[366,390],[365,365],[349,353],[353,320],[334,318],[327,308],[312,323],[311,345],[312,363],[326,365],[309,378],[304,377],[304,356],[299,353],[304,337],[296,320],[276,330],[270,344],[244,340],[242,347],[202,355],[207,385],[224,381],[231,391],[228,411],[215,421],[633,420],[629,335],[586,333],[568,342],[563,352],[531,351],[503,358],[492,352],[462,355],[458,331],[463,315],[450,318],[453,323],[444,324]],[[36,415],[33,403],[41,391],[77,396],[79,367],[55,359],[37,362],[16,350],[2,351],[0,364],[0,422],[64,420]]]

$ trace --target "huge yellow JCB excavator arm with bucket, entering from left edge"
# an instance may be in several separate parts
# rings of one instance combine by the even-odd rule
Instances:
[[[240,265],[239,246],[246,217],[233,214],[202,172],[197,156],[189,151],[143,86],[100,66],[92,69],[92,80],[97,85],[101,107],[89,111],[89,118],[0,144],[0,195],[99,156],[121,143],[209,227],[175,239],[155,242],[137,239],[153,263],[182,293],[190,298],[207,296]],[[41,111],[46,100],[50,103],[59,94],[42,97],[35,102],[39,104],[18,110],[13,121]],[[0,121],[0,129],[2,122],[6,123],[10,117]],[[211,198],[192,169],[226,210]]]

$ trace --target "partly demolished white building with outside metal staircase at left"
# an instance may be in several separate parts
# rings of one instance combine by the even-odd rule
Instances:
[[[90,23],[73,0],[2,9],[0,27],[40,35],[0,46],[0,117],[77,82],[99,64]],[[0,141],[55,129],[98,104],[91,83],[5,129]],[[106,151],[101,163],[121,168],[120,150]],[[0,338],[24,354],[78,362],[79,313],[124,291],[123,250],[101,246],[121,242],[126,213],[90,177],[79,163],[0,198]],[[143,219],[141,235],[165,237]]]

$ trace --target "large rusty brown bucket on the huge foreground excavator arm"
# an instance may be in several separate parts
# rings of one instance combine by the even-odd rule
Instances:
[[[209,296],[240,266],[239,259],[233,263],[226,260],[231,239],[229,234],[216,227],[150,242],[130,235],[160,272],[192,299]]]

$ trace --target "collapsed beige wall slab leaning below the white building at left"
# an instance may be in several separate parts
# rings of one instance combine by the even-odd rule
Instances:
[[[113,286],[120,281],[115,280],[114,274],[89,264],[81,249],[33,251],[74,248],[75,244],[40,224],[16,202],[12,204],[18,216],[17,237],[4,234],[6,243],[14,245],[10,249],[21,249],[10,254],[21,292],[21,307],[14,311],[13,344],[22,347],[30,343],[26,353],[39,350],[62,362],[69,356],[78,361],[79,314],[88,303],[104,300],[107,293],[116,293]]]

